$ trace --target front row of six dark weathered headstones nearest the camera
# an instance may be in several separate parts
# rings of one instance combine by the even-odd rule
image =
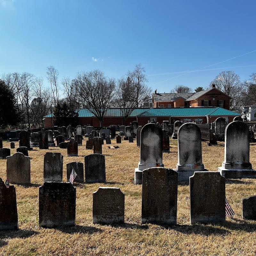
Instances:
[[[225,178],[219,172],[195,172],[189,178],[190,224],[226,220]],[[161,167],[143,171],[141,223],[177,224],[178,173]],[[14,186],[0,178],[0,229],[18,229]],[[3,207],[4,206],[4,207]],[[242,200],[243,219],[256,220],[256,196]],[[69,182],[44,182],[39,187],[39,226],[74,226],[76,188]],[[93,193],[92,222],[124,223],[124,193],[100,187]]]

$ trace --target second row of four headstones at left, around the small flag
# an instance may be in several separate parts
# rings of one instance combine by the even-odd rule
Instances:
[[[30,158],[18,152],[6,157],[6,176],[10,183],[30,183]],[[106,182],[105,156],[91,154],[84,156],[84,164],[72,162],[67,164],[67,180],[72,169],[77,173],[75,181]],[[85,170],[85,172],[84,172]],[[85,174],[85,175],[84,175]],[[59,181],[63,179],[63,155],[47,152],[44,155],[44,181]]]

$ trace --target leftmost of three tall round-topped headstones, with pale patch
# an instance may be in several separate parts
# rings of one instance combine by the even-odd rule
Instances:
[[[164,167],[163,132],[156,124],[146,124],[140,132],[140,162],[134,169],[134,182],[142,183],[142,171],[151,167]]]

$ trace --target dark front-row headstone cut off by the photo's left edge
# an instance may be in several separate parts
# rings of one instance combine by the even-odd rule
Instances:
[[[0,178],[0,230],[19,229],[15,187]]]

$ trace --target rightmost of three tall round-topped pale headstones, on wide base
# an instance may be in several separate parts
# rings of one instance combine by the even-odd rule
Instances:
[[[249,154],[248,125],[241,121],[229,123],[225,130],[224,161],[218,171],[227,179],[256,178]]]

